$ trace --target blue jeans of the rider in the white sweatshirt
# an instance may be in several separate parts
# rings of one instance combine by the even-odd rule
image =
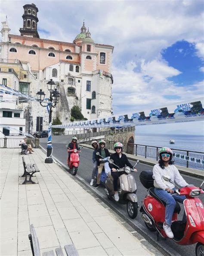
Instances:
[[[175,188],[173,190],[175,191]],[[173,211],[176,206],[176,201],[179,203],[183,203],[183,201],[186,199],[185,195],[171,195],[166,190],[157,189],[157,188],[155,188],[155,194],[166,203],[165,222],[168,225],[171,225]],[[185,220],[186,220],[186,216],[185,216],[185,212],[184,212],[183,221],[185,221]]]

